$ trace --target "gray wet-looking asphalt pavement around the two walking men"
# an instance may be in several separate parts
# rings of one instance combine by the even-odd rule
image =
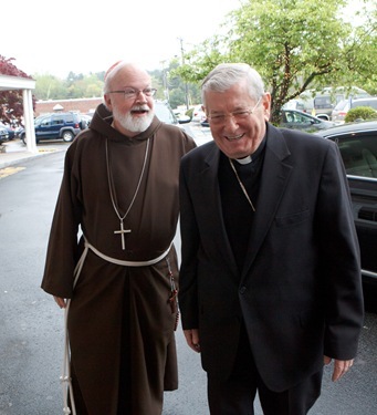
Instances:
[[[190,128],[199,145],[210,139],[208,131]],[[40,289],[40,280],[69,145],[49,142],[30,154],[14,141],[7,143],[7,153],[0,153],[0,178],[6,174],[0,180],[0,415],[62,413],[63,314]],[[175,245],[179,252],[178,232]],[[353,370],[332,383],[332,366],[325,369],[322,396],[310,414],[377,414],[376,311],[374,307],[366,312]],[[207,415],[206,373],[200,355],[187,346],[181,328],[177,349],[180,385],[166,393],[163,415]],[[261,414],[256,402],[255,415]]]

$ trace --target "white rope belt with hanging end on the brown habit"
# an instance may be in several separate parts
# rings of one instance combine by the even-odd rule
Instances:
[[[117,266],[123,267],[149,267],[157,262],[159,262],[161,259],[164,259],[170,251],[170,248],[172,246],[172,241],[169,245],[169,248],[163,252],[157,258],[147,260],[147,261],[124,261],[121,259],[108,257],[107,255],[98,251],[92,243],[90,243],[86,238],[84,238],[84,251],[81,255],[78,262],[74,269],[74,281],[73,281],[73,289],[76,287],[78,277],[81,274],[81,271],[83,269],[86,256],[88,250],[92,250],[97,257],[104,259],[107,262],[115,263]],[[73,388],[72,388],[72,377],[71,377],[71,364],[70,364],[70,341],[69,341],[69,329],[67,329],[67,320],[69,320],[69,310],[71,305],[71,299],[66,300],[66,307],[64,310],[64,357],[63,357],[63,366],[62,366],[62,375],[60,376],[60,382],[63,387],[63,414],[73,414],[76,415],[76,407],[74,403],[74,396],[73,396]],[[71,406],[72,412],[69,407],[69,392],[70,392],[70,398],[71,398]]]

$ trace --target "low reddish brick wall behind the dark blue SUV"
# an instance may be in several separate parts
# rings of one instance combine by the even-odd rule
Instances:
[[[53,113],[54,107],[61,105],[61,111],[74,111],[82,114],[93,113],[94,110],[103,102],[103,98],[84,98],[84,100],[51,100],[36,101],[34,115]]]

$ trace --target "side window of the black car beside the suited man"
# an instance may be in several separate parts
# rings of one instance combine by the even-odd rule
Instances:
[[[365,135],[337,142],[347,175],[377,177],[377,136]]]

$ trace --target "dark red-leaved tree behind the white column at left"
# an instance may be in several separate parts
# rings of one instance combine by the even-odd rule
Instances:
[[[13,63],[14,58],[4,58],[0,55],[0,74],[9,76],[19,76],[31,79],[27,73],[19,70]],[[33,97],[33,107],[35,98]],[[22,91],[1,91],[0,92],[0,120],[9,125],[22,125],[23,100]]]

